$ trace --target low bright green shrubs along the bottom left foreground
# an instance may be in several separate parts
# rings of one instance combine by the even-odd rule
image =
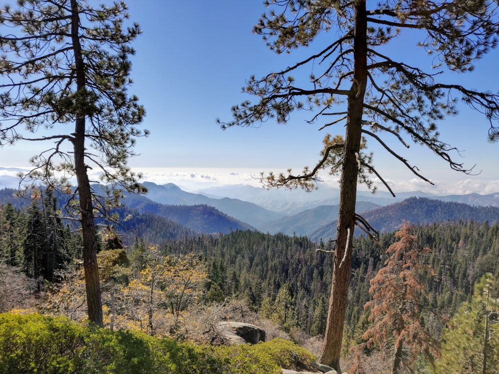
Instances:
[[[0,315],[4,374],[268,374],[312,360],[303,348],[280,339],[254,346],[196,346],[65,318]]]

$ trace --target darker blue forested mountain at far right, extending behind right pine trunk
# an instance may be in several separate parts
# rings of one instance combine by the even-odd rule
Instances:
[[[442,201],[427,197],[410,197],[403,201],[369,210],[362,216],[377,231],[389,232],[400,227],[403,220],[413,224],[475,220],[498,222],[499,207],[472,206],[470,204]],[[327,239],[336,236],[337,219],[310,233],[311,239]],[[356,230],[356,233],[362,233]]]

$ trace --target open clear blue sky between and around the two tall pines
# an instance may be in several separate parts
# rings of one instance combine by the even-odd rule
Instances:
[[[251,32],[265,11],[259,0],[154,1],[128,0],[130,19],[140,23],[143,34],[134,42],[130,92],[145,106],[144,128],[149,138],[138,139],[140,153],[130,160],[146,178],[159,183],[182,180],[212,183],[242,183],[260,171],[299,171],[319,159],[323,131],[295,115],[286,125],[267,122],[254,128],[222,131],[215,119],[230,120],[230,108],[249,98],[241,94],[245,80],[263,76],[299,61],[321,45],[290,55],[271,52],[261,37]],[[145,5],[147,3],[147,5]],[[334,37],[330,33],[329,37]],[[390,46],[400,59],[425,59],[415,40],[402,35]],[[455,82],[482,90],[498,90],[496,51],[478,62],[476,72],[449,77]],[[499,191],[496,154],[499,144],[487,142],[488,123],[478,113],[460,107],[460,115],[440,125],[442,140],[465,151],[463,162],[477,164],[479,176],[451,171],[443,161],[419,146],[405,151],[404,157],[417,165],[421,173],[437,186],[418,181],[398,161],[373,143],[377,170],[390,181],[394,190],[424,189],[430,192]],[[336,133],[335,129],[329,131]],[[341,134],[339,127],[337,133]],[[4,166],[23,166],[32,154],[32,144],[5,147],[1,150]],[[31,153],[30,153],[31,152]],[[2,161],[3,163],[3,161]],[[171,179],[171,180],[167,180]],[[334,178],[324,176],[334,182]],[[384,189],[380,185],[380,189]]]

